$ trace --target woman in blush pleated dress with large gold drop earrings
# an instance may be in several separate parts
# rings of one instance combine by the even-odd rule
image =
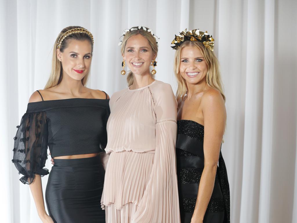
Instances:
[[[110,154],[101,205],[106,222],[180,222],[176,176],[177,102],[169,84],[154,80],[157,37],[143,26],[121,44],[128,88],[110,98]],[[123,70],[121,72],[125,74]]]

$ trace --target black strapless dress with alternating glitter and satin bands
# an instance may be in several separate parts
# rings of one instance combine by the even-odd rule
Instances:
[[[191,222],[204,168],[204,126],[192,120],[177,121],[176,162],[181,222]],[[230,190],[222,153],[203,223],[230,222]]]

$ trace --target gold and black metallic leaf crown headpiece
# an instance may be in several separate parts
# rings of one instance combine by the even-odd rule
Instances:
[[[214,39],[212,36],[208,35],[207,31],[201,32],[199,29],[193,29],[191,31],[185,29],[178,35],[175,35],[174,40],[171,42],[174,46],[171,47],[176,50],[186,40],[201,42],[206,49],[214,51]]]

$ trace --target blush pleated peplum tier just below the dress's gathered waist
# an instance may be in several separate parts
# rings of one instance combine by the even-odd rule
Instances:
[[[133,151],[112,152],[105,172],[101,208],[139,205],[151,176],[154,154]]]

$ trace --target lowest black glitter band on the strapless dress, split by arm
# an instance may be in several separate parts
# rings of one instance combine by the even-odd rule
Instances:
[[[193,212],[196,205],[196,198],[184,198],[183,204],[184,204],[184,211],[185,212]],[[220,212],[224,211],[224,200],[222,197],[211,197],[209,200],[206,212]]]

